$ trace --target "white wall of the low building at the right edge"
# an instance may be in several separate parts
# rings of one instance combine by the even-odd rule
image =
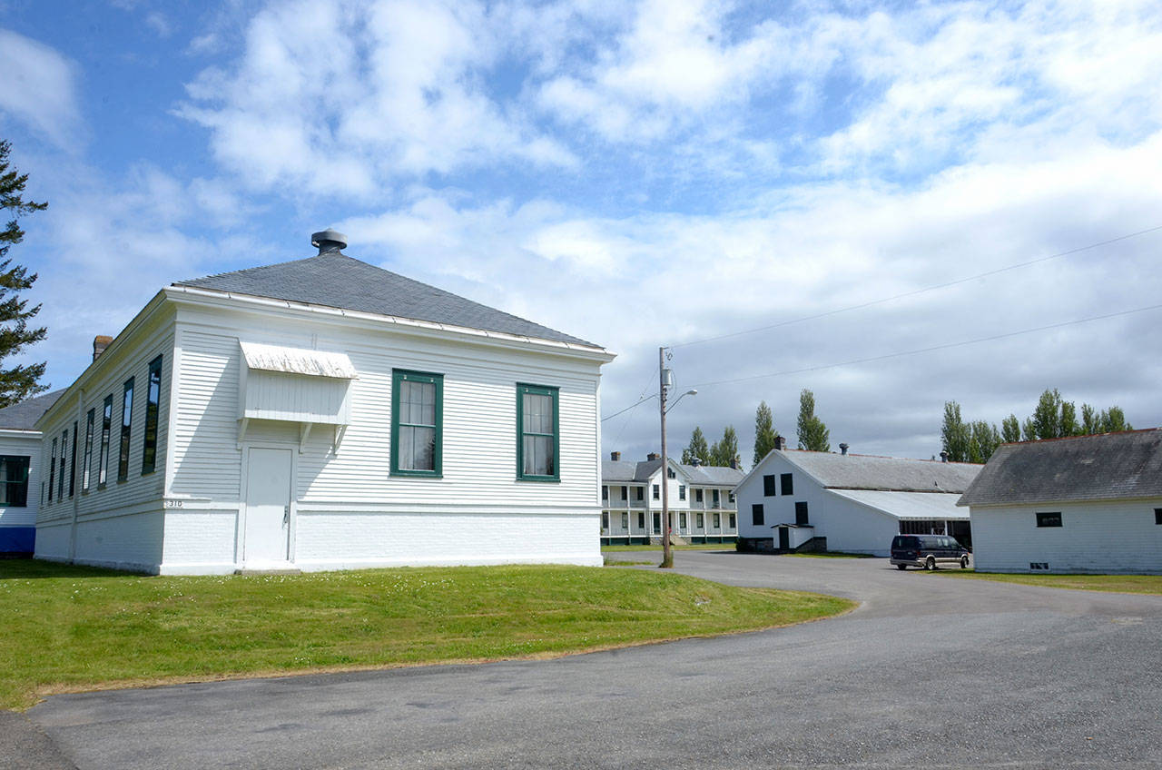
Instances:
[[[1162,573],[1162,498],[1037,506],[973,506],[973,559],[982,572]],[[1060,512],[1061,527],[1038,527],[1038,512]]]

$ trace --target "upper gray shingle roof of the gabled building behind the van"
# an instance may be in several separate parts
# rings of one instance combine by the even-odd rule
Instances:
[[[963,492],[982,468],[970,463],[834,455],[798,449],[787,449],[780,454],[819,479],[824,486],[839,490]]]

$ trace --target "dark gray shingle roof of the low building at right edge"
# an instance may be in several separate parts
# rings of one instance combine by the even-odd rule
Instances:
[[[1003,444],[959,505],[1162,497],[1162,428]]]

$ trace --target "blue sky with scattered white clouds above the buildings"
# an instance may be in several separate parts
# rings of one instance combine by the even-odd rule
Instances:
[[[672,443],[765,399],[927,457],[945,400],[1162,423],[1154,2],[0,3],[0,135],[48,212],[53,386],[165,284],[347,254],[598,342],[603,413],[673,344]],[[795,375],[761,377],[775,372]],[[705,385],[720,380],[741,380]],[[605,450],[657,448],[647,402]]]

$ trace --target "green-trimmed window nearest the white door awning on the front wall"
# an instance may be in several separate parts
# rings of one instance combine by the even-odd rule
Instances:
[[[440,476],[444,376],[392,370],[392,475]]]

